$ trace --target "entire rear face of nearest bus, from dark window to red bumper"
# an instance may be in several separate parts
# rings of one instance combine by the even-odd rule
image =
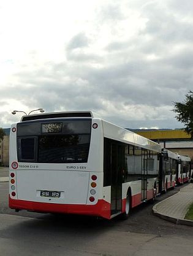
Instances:
[[[100,119],[55,118],[13,124],[10,208],[110,218],[110,202],[102,194],[102,146]]]

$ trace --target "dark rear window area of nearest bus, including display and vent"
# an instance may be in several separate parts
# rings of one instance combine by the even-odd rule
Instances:
[[[19,162],[88,162],[91,119],[28,122],[17,130]]]

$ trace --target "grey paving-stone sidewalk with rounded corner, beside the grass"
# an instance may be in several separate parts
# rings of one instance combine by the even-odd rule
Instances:
[[[193,202],[193,183],[181,188],[180,192],[170,196],[153,207],[154,214],[176,224],[193,226],[191,220],[184,220],[187,209]]]

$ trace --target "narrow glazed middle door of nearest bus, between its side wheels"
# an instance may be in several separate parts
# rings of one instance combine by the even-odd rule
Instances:
[[[142,201],[147,199],[148,151],[142,149]]]

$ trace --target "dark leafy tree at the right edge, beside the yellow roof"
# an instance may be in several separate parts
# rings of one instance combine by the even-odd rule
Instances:
[[[193,91],[190,90],[186,95],[184,102],[174,102],[176,113],[175,118],[185,124],[185,131],[193,138]]]

